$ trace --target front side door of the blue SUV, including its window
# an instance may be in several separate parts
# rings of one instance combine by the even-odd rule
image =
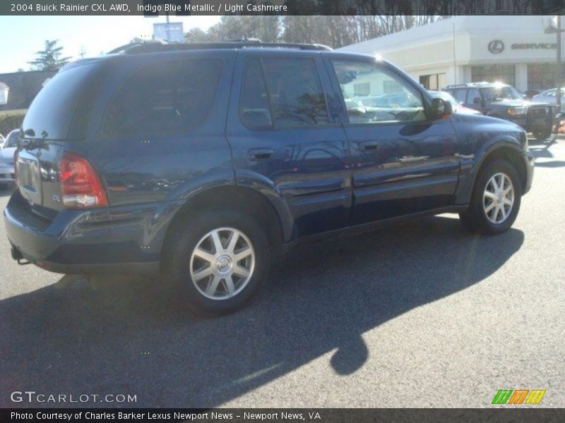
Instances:
[[[427,103],[415,84],[377,61],[345,56],[325,56],[325,60],[335,90],[344,99],[343,127],[351,148],[355,204],[350,223],[453,204],[459,157],[451,122],[430,121]],[[371,106],[347,107],[345,100],[363,104],[359,94],[368,94]]]

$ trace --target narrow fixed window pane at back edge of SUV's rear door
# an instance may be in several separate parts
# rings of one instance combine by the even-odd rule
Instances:
[[[239,113],[242,121],[251,128],[268,128],[273,125],[267,88],[258,59],[251,59],[246,63]]]

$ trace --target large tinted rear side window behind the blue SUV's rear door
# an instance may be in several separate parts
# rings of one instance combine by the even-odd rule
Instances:
[[[107,137],[183,133],[201,123],[213,103],[220,60],[158,63],[124,82],[106,112]]]

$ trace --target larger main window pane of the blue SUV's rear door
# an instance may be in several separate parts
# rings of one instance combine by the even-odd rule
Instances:
[[[312,59],[263,59],[270,102],[278,126],[328,123],[316,63]]]

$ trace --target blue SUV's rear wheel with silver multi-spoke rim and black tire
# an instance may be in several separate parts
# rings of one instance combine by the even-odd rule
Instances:
[[[208,316],[232,313],[248,304],[270,266],[265,232],[251,216],[237,211],[186,216],[174,228],[167,251],[165,278],[182,292],[193,312]]]

